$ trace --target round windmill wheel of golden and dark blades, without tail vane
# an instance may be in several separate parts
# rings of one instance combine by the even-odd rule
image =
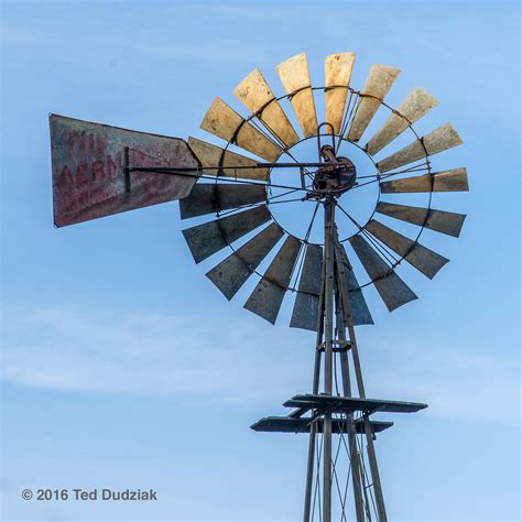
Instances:
[[[271,211],[275,203],[285,203],[282,194],[292,195],[293,202],[298,196],[303,205],[315,203],[315,208],[334,203],[338,216],[355,227],[346,238],[341,237],[340,225],[336,228],[355,325],[373,323],[362,293],[365,286],[373,284],[390,312],[415,300],[396,269],[405,260],[427,278],[434,278],[448,260],[421,244],[423,230],[458,237],[465,220],[461,214],[432,207],[433,193],[468,189],[466,168],[435,172],[432,166],[432,156],[461,144],[460,137],[449,123],[424,135],[413,128],[438,104],[437,99],[422,88],[413,88],[399,107],[392,108],[384,99],[400,70],[373,65],[363,88],[357,90],[350,85],[354,62],[354,53],[327,56],[324,86],[314,87],[306,55],[293,56],[276,67],[285,90],[279,97],[261,72],[254,69],[233,90],[249,115],[242,117],[216,98],[200,124],[225,144],[188,139],[203,175],[189,196],[180,202],[181,217],[214,215],[213,220],[183,231],[188,248],[199,263],[228,247],[228,257],[206,275],[228,300],[255,275],[259,281],[244,307],[272,324],[290,293],[295,294],[290,325],[316,330],[323,270],[323,246],[309,238],[317,211],[307,233],[297,237]],[[318,105],[319,98],[324,106]],[[322,111],[324,107],[325,121],[320,124],[316,105]],[[285,107],[292,107],[293,113],[287,115]],[[385,119],[372,131],[378,113]],[[366,137],[369,131],[372,135]],[[412,135],[409,144],[388,155],[381,152],[385,148],[393,151],[394,140],[407,135],[406,131]],[[300,162],[293,154],[293,148],[304,140],[317,141],[315,162]],[[372,165],[371,175],[358,177],[357,162],[341,155],[346,144],[366,154]],[[237,152],[239,149],[244,152]],[[292,166],[300,170],[300,183],[292,184],[290,177],[287,184],[273,182],[275,172]],[[358,222],[344,208],[342,197],[369,184],[378,188],[378,199],[368,220]],[[274,196],[274,188],[286,192]],[[426,206],[393,202],[398,196],[420,193],[425,193]],[[406,237],[387,225],[387,219],[411,224],[417,227],[416,232]],[[363,284],[359,284],[362,274],[356,275],[350,262],[354,254],[366,271],[368,281]],[[260,272],[267,258],[271,260]]]

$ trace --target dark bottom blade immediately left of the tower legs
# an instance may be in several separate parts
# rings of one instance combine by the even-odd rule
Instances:
[[[323,248],[318,244],[308,244],[290,322],[291,327],[317,331],[322,271]]]

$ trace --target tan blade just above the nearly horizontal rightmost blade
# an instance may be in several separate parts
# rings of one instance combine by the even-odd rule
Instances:
[[[437,154],[438,152],[447,151],[460,144],[463,144],[463,140],[457,131],[450,123],[446,123],[422,138],[422,142],[415,140],[413,143],[410,143],[394,154],[378,162],[377,167],[381,172],[389,172],[398,166],[407,165],[409,163],[421,160],[425,157],[426,154]]]

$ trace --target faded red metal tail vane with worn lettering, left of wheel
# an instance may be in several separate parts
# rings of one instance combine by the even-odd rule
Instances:
[[[51,115],[53,207],[56,227],[87,221],[187,196],[195,177],[131,172],[122,175],[124,149],[131,166],[198,167],[178,138],[137,132]]]

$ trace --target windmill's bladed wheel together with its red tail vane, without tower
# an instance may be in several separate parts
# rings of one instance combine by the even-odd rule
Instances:
[[[327,56],[324,85],[314,87],[306,55],[293,56],[276,67],[285,90],[279,97],[261,72],[252,70],[233,90],[248,116],[217,97],[200,124],[222,146],[194,137],[185,141],[52,115],[55,225],[180,199],[181,218],[197,218],[183,231],[195,262],[228,249],[228,257],[206,274],[227,300],[255,275],[247,309],[275,323],[283,300],[292,294],[290,325],[316,330],[324,249],[308,232],[298,237],[274,218],[273,206],[286,202],[275,202],[281,196],[272,191],[287,189],[293,200],[298,196],[308,208],[309,202],[320,205],[330,199],[337,214],[342,211],[356,226],[346,237],[340,237],[339,229],[351,319],[355,325],[372,324],[362,289],[373,285],[390,312],[415,300],[396,269],[406,261],[432,279],[447,263],[418,239],[424,229],[459,236],[465,216],[432,208],[432,194],[467,191],[468,183],[464,167],[433,170],[433,155],[461,143],[456,130],[446,123],[420,135],[413,128],[438,100],[414,88],[392,108],[384,99],[400,70],[373,65],[363,88],[356,90],[350,85],[354,63],[354,53]],[[318,102],[324,102],[326,118],[320,124]],[[388,119],[360,144],[379,111],[388,111]],[[394,140],[405,132],[413,141],[393,150]],[[293,154],[305,140],[317,140],[315,162]],[[371,175],[360,176],[356,162],[342,154],[345,144],[358,146],[368,156]],[[387,148],[391,153],[382,154]],[[301,177],[278,185],[273,174],[285,168],[298,168]],[[379,197],[368,219],[357,222],[342,207],[342,197],[370,183],[378,187]],[[401,199],[422,193],[428,196],[424,207]],[[202,222],[206,216],[213,219]],[[418,232],[406,237],[393,228],[394,220],[414,225]],[[362,276],[369,278],[366,283],[359,283],[350,262],[354,255],[366,272]]]

